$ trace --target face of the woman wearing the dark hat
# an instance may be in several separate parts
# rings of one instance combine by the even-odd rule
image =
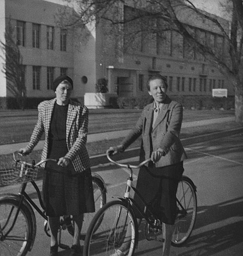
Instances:
[[[64,80],[58,84],[56,88],[55,94],[57,97],[57,103],[59,105],[67,105],[72,93],[72,86],[71,84]]]

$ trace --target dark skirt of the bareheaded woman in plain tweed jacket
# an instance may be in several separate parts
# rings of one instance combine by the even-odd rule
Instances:
[[[147,171],[148,170],[148,171]],[[173,225],[176,218],[176,190],[182,178],[183,162],[164,167],[142,166],[139,171],[137,189],[161,222]],[[144,210],[137,194],[134,200]],[[142,218],[135,208],[137,218]]]

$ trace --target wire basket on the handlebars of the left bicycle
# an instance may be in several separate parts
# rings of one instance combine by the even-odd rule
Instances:
[[[38,170],[39,166],[20,160],[2,163],[0,165],[0,185],[35,181]]]

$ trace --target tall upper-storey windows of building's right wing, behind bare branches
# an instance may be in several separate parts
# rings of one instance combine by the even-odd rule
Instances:
[[[130,51],[139,51],[157,55],[176,56],[180,58],[205,60],[205,56],[196,52],[192,42],[188,42],[182,35],[175,31],[164,31],[163,20],[154,16],[146,23],[148,16],[144,12],[144,20],[138,17],[143,16],[144,11],[129,6],[124,6],[124,19],[132,20],[124,23],[124,48]],[[146,26],[150,26],[151,33],[148,33]],[[189,27],[188,30],[203,45],[210,47],[217,56],[224,57],[226,47],[224,36],[201,28]]]

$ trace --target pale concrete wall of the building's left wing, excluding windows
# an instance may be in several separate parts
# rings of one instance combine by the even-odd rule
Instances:
[[[6,1],[6,0],[5,0]],[[2,2],[1,1],[1,11]],[[5,17],[11,16],[12,26],[16,20],[26,22],[26,44],[19,46],[26,65],[26,87],[28,97],[52,97],[52,90],[47,90],[47,67],[54,67],[54,79],[60,75],[60,68],[67,68],[68,75],[74,80],[73,97],[83,97],[85,91],[95,88],[95,38],[90,37],[84,44],[79,35],[69,30],[67,35],[67,51],[60,51],[60,29],[56,27],[54,15],[60,5],[42,0],[8,0]],[[32,47],[32,24],[40,24],[40,48]],[[1,23],[2,26],[2,23]],[[47,26],[54,27],[54,49],[47,49]],[[1,29],[4,31],[4,28]],[[16,31],[15,31],[16,33]],[[82,44],[79,44],[82,41]],[[85,40],[84,40],[85,41]],[[33,90],[32,66],[41,67],[40,90]],[[82,84],[81,77],[87,76],[87,84]],[[4,88],[6,88],[4,86]],[[2,93],[0,96],[3,96]]]

